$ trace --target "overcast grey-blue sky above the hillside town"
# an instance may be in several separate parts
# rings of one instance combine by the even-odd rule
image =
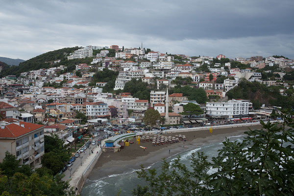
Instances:
[[[294,0],[0,0],[0,56],[74,46],[294,59]]]

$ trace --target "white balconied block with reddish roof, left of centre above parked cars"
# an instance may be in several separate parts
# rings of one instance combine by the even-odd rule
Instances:
[[[90,119],[107,117],[108,105],[103,102],[86,103],[86,116]]]

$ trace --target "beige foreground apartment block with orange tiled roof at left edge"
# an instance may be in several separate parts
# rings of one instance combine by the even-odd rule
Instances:
[[[20,160],[20,165],[34,167],[41,163],[44,155],[44,125],[1,121],[0,126],[0,162],[8,151]]]

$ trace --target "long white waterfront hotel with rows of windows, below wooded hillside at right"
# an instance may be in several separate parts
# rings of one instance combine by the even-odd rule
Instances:
[[[247,116],[250,107],[249,100],[229,100],[227,102],[207,102],[206,114],[209,116],[228,116],[229,119]]]

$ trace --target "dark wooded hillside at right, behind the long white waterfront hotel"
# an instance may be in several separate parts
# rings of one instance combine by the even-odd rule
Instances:
[[[248,82],[242,79],[237,87],[226,93],[229,99],[241,98],[248,99],[253,103],[254,108],[261,104],[266,106],[280,106],[282,108],[294,108],[294,97],[282,96],[279,92],[280,87],[267,87],[258,82]]]

